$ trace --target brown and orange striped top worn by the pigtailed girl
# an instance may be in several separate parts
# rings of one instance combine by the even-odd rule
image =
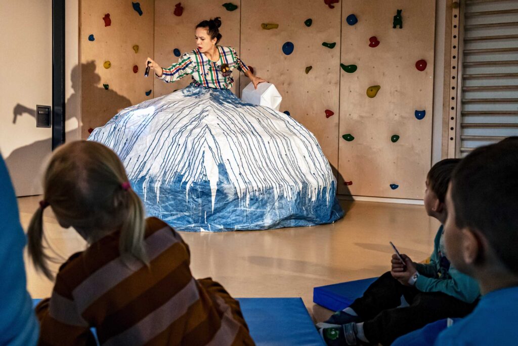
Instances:
[[[239,303],[211,279],[195,280],[189,247],[147,219],[150,267],[119,256],[118,233],[71,256],[50,299],[36,307],[40,345],[253,345]]]

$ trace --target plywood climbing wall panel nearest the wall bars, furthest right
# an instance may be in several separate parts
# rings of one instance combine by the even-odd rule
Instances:
[[[393,29],[397,9],[402,29]],[[342,20],[339,193],[421,199],[431,158],[435,1],[349,0]]]

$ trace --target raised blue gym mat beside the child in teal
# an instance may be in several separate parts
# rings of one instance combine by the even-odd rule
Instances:
[[[313,302],[332,311],[343,310],[378,278],[342,282],[313,288]]]

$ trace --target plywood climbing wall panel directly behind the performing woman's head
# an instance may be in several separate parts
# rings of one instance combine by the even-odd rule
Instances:
[[[196,24],[210,18],[221,17],[220,33],[223,36],[219,45],[232,46],[239,53],[239,1],[237,9],[228,11],[222,6],[224,1],[186,0],[178,3],[170,0],[155,0],[155,50],[154,60],[163,67],[177,63],[180,54],[196,49],[194,38]],[[177,4],[180,4],[177,6]],[[180,9],[181,8],[181,9]],[[175,55],[175,49],[176,55]],[[234,87],[239,90],[239,71],[235,70]],[[174,83],[154,81],[155,97],[168,94],[189,85],[191,77],[186,76]]]

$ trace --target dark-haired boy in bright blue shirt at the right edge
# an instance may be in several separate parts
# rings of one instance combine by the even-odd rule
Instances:
[[[473,150],[447,195],[444,240],[459,271],[483,294],[477,308],[436,345],[511,345],[518,340],[518,141]]]

